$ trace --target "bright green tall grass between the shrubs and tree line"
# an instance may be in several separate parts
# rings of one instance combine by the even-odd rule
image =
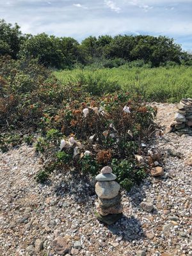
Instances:
[[[122,88],[139,93],[147,101],[179,102],[192,97],[192,67],[101,68],[96,70],[62,70],[54,75],[63,83],[80,83],[100,93]]]

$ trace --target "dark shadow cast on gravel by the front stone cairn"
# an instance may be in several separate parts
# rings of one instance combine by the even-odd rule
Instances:
[[[123,241],[138,241],[145,237],[140,221],[134,218],[134,216],[130,218],[123,216],[115,225],[109,225],[108,229],[112,234],[122,236]]]

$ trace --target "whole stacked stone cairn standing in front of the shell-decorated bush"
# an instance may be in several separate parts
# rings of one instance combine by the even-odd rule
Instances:
[[[105,166],[95,177],[95,192],[98,196],[97,220],[112,225],[122,218],[123,205],[121,204],[120,184],[115,181],[116,175],[109,166]]]

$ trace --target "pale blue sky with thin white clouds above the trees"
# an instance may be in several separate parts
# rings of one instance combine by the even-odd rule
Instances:
[[[165,35],[192,51],[192,0],[1,0],[0,19],[22,33]]]

